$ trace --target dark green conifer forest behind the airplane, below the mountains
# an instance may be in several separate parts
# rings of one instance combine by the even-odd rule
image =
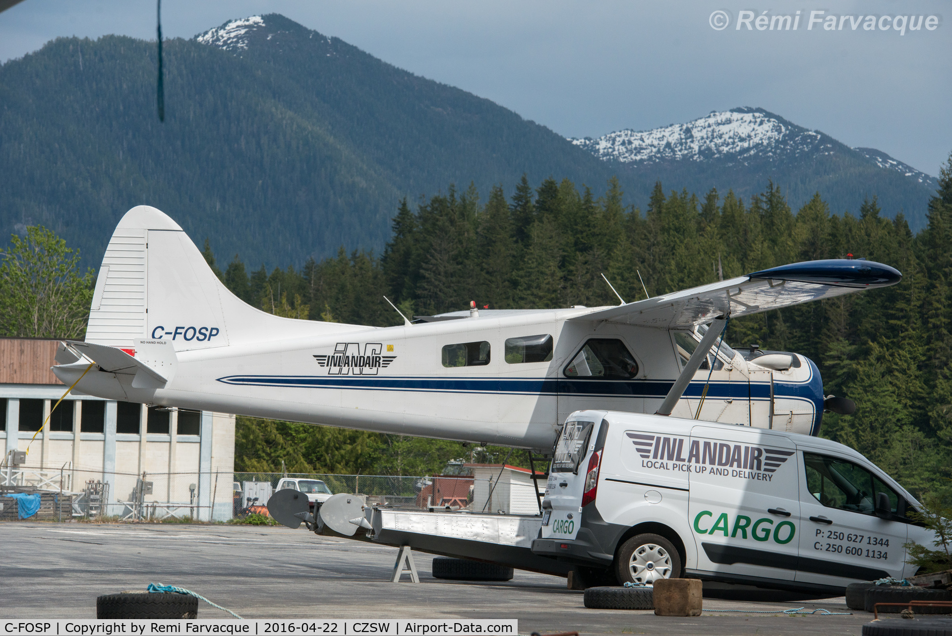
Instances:
[[[836,215],[816,196],[791,209],[766,184],[742,200],[656,185],[647,209],[625,207],[617,182],[595,198],[567,180],[526,178],[512,192],[457,189],[410,203],[382,254],[341,247],[300,268],[250,272],[240,254],[205,255],[236,295],[276,314],[360,325],[398,325],[384,296],[411,315],[467,308],[617,304],[786,263],[879,261],[902,271],[891,288],[773,310],[732,321],[731,345],[796,351],[816,362],[825,394],[854,400],[850,416],[826,413],[821,435],[854,447],[913,493],[952,494],[952,158],[913,234],[875,198],[859,215]],[[403,445],[403,447],[400,447]],[[373,450],[376,448],[376,452]],[[242,420],[236,469],[421,474],[469,456],[451,442],[396,439]],[[370,452],[367,452],[370,451]],[[488,452],[485,450],[484,452]]]

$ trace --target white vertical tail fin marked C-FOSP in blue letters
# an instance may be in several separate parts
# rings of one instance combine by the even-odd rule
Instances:
[[[282,318],[249,306],[218,280],[177,223],[158,209],[137,206],[109,240],[86,341],[134,350],[146,339],[184,351],[361,328]]]

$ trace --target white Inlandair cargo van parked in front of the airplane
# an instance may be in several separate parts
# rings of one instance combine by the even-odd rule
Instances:
[[[915,574],[919,504],[855,450],[818,437],[605,410],[556,443],[532,552],[619,582],[691,577],[843,593]]]

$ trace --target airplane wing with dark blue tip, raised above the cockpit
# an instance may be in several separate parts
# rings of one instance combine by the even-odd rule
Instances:
[[[736,318],[863,289],[888,287],[901,280],[899,270],[872,261],[805,261],[619,307],[598,309],[569,320],[690,328],[709,323],[721,315]]]

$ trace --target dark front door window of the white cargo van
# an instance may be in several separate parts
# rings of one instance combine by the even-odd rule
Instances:
[[[806,487],[825,507],[875,514],[876,493],[889,497],[889,507],[899,512],[900,498],[883,480],[865,468],[838,457],[804,452]]]

